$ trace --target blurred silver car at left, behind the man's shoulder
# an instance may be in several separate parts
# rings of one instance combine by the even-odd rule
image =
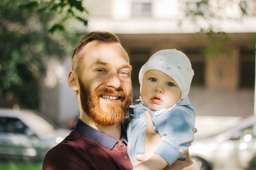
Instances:
[[[44,160],[70,130],[57,129],[30,110],[0,109],[0,160]]]

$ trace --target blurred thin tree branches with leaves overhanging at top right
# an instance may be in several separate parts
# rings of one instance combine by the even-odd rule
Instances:
[[[184,2],[183,6],[184,6]],[[232,55],[230,51],[225,48],[227,43],[230,43],[226,32],[221,31],[221,27],[216,26],[216,21],[228,20],[233,22],[243,22],[244,18],[255,17],[255,9],[253,9],[253,1],[250,0],[200,0],[186,2],[186,17],[191,20],[191,24],[201,25],[199,33],[207,35],[208,44],[200,51],[204,56],[212,56],[214,53]],[[182,6],[180,4],[180,6]],[[228,13],[228,10],[239,11],[235,14]],[[205,24],[207,23],[207,24]],[[180,20],[182,25],[182,20]],[[206,26],[205,26],[206,25]],[[214,25],[214,26],[213,26]],[[221,26],[221,25],[219,25]],[[255,51],[256,36],[252,37],[252,50]]]

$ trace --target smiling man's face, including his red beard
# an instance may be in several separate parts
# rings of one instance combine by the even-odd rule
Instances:
[[[99,125],[116,125],[132,101],[131,65],[120,43],[92,41],[79,53],[79,96],[84,112]]]

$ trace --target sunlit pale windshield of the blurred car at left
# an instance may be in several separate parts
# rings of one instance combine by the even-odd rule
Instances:
[[[44,118],[32,113],[31,111],[24,111],[25,121],[33,131],[37,134],[48,134],[54,131],[53,125],[47,122]]]

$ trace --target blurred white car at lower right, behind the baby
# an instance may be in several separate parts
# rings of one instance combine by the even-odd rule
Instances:
[[[201,170],[246,169],[256,155],[256,118],[241,120],[209,138],[196,139],[189,154]]]

